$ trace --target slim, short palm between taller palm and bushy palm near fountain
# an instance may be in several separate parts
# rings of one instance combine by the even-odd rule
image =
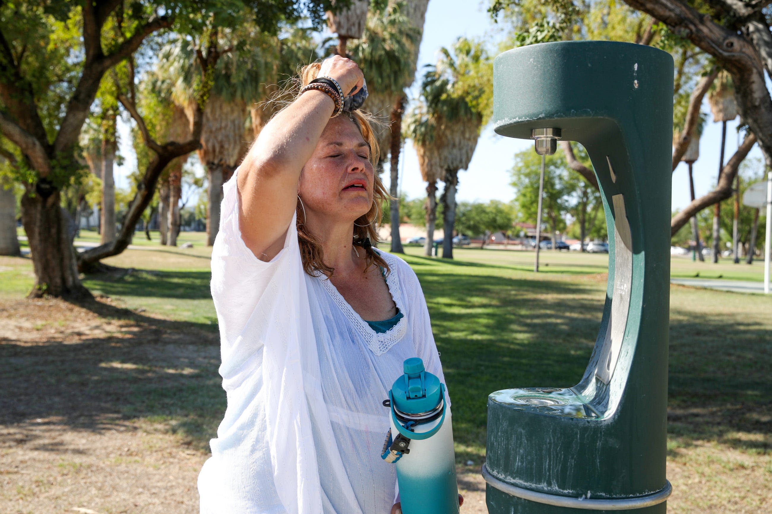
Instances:
[[[426,243],[424,254],[432,255],[434,231],[437,222],[437,181],[442,180],[443,170],[440,167],[440,157],[436,144],[434,120],[428,116],[425,103],[418,105],[408,114],[405,137],[413,141],[415,153],[418,154],[418,167],[421,178],[426,182]]]

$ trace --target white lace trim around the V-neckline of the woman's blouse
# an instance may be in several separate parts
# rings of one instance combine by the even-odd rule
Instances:
[[[378,252],[381,257],[384,258],[391,269],[391,272],[386,276],[386,285],[388,286],[389,293],[391,293],[391,299],[394,300],[399,312],[402,313],[402,317],[399,319],[396,325],[392,326],[384,333],[378,333],[367,324],[367,321],[362,319],[362,316],[357,314],[344,297],[338,293],[337,288],[330,282],[325,276],[317,275],[317,279],[322,282],[324,289],[327,289],[327,293],[330,293],[332,299],[336,303],[340,310],[344,313],[347,320],[350,321],[357,332],[362,336],[362,339],[367,344],[367,348],[376,355],[383,355],[388,352],[389,348],[398,343],[402,337],[405,336],[405,332],[408,330],[408,313],[405,309],[405,304],[402,302],[402,293],[399,287],[398,267],[399,263],[397,259],[386,252]]]

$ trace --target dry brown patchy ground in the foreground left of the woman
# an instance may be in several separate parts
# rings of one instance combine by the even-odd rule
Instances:
[[[108,299],[0,301],[0,512],[198,512],[218,359],[211,330]],[[486,512],[477,466],[459,486]]]

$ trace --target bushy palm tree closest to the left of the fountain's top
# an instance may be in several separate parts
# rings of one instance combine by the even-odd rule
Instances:
[[[469,167],[480,129],[493,108],[493,62],[481,42],[466,38],[459,38],[452,52],[443,48],[440,53],[424,76],[422,96],[435,123],[435,146],[445,173],[442,257],[452,259],[459,170]]]

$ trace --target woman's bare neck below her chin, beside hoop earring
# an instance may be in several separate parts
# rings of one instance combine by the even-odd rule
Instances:
[[[335,269],[335,276],[361,272],[363,249],[354,249],[354,222],[306,219],[306,226],[322,245],[324,263]],[[358,255],[357,255],[358,254]]]

